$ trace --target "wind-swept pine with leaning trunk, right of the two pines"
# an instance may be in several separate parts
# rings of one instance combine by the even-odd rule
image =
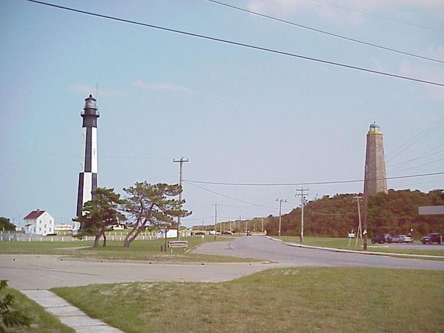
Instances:
[[[147,227],[171,225],[173,217],[189,216],[191,212],[182,210],[185,200],[171,199],[182,191],[179,185],[136,182],[134,187],[123,189],[126,192],[126,212],[132,226],[126,234],[123,246],[128,248],[137,235]]]

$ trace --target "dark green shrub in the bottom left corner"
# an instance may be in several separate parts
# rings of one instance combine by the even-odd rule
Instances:
[[[8,280],[0,281],[0,291],[8,287]],[[0,298],[0,333],[6,333],[7,327],[31,325],[31,319],[20,311],[13,309],[15,298],[12,294],[6,293]]]

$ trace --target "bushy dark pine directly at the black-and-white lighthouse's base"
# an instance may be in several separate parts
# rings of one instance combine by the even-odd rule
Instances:
[[[106,246],[105,231],[112,225],[118,225],[119,221],[125,221],[126,217],[119,212],[119,206],[125,203],[114,189],[99,187],[94,189],[94,200],[83,204],[83,215],[77,216],[73,221],[80,222],[80,232],[77,237],[92,235],[94,248],[99,246],[99,239],[103,237],[103,246]]]

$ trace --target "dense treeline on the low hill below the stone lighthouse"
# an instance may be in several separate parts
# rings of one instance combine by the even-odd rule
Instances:
[[[336,194],[309,201],[304,206],[305,236],[346,237],[347,233],[359,225],[357,199],[361,194]],[[364,221],[364,204],[361,200],[361,221]],[[388,194],[379,193],[368,199],[368,234],[371,236],[388,232],[391,234],[409,234],[413,237],[429,232],[444,233],[443,215],[418,215],[418,206],[444,205],[444,191],[436,189],[429,193],[410,190],[388,190]],[[300,234],[300,207],[289,214],[282,215],[281,235],[298,236]],[[264,219],[267,234],[277,235],[279,216]]]

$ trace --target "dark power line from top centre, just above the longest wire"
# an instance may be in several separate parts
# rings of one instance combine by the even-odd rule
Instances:
[[[248,12],[248,13],[253,14],[253,15],[257,15],[257,16],[260,16],[260,17],[265,17],[266,19],[272,19],[273,21],[282,22],[284,24],[290,24],[291,26],[297,26],[298,28],[304,28],[304,29],[307,29],[309,31],[314,31],[316,33],[323,33],[324,35],[328,35],[330,37],[341,38],[342,40],[348,40],[349,42],[355,42],[355,43],[364,44],[364,45],[367,45],[367,46],[376,47],[378,49],[383,49],[383,50],[386,50],[386,51],[400,53],[400,54],[403,54],[404,56],[411,56],[411,57],[414,57],[414,58],[420,58],[420,59],[423,59],[423,60],[429,60],[429,61],[434,61],[434,62],[441,62],[441,64],[444,64],[444,61],[442,61],[442,60],[438,60],[438,59],[434,59],[434,58],[428,58],[428,57],[425,57],[425,56],[419,56],[419,55],[414,54],[414,53],[400,51],[400,50],[393,49],[393,48],[390,48],[390,47],[386,47],[386,46],[382,46],[382,45],[378,45],[378,44],[373,44],[373,43],[370,43],[370,42],[364,42],[362,40],[356,40],[356,39],[351,38],[351,37],[345,37],[345,36],[342,36],[342,35],[337,35],[336,33],[329,33],[328,31],[323,31],[323,30],[317,29],[317,28],[311,28],[310,26],[305,26],[305,25],[298,24],[298,23],[295,23],[295,22],[287,21],[285,19],[280,19],[278,17],[273,17],[271,15],[266,15],[266,14],[262,14],[260,12],[254,12],[253,10],[248,10],[248,9],[245,9],[245,8],[241,8],[241,7],[237,7],[237,6],[232,6],[232,5],[229,5],[228,3],[223,3],[223,2],[220,2],[220,1],[216,1],[216,0],[207,0],[207,1],[210,1],[212,3],[216,3],[218,5],[225,6],[225,7],[228,7],[228,8],[232,8],[234,10],[240,10],[242,12]]]

